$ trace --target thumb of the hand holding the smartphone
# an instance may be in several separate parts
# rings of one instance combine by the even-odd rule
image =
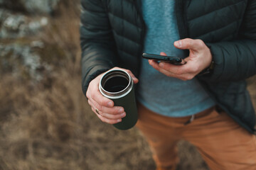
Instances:
[[[205,46],[205,43],[202,40],[193,40],[191,38],[185,38],[183,40],[178,40],[174,42],[174,46],[181,50],[193,50],[197,52],[198,50],[202,50]]]

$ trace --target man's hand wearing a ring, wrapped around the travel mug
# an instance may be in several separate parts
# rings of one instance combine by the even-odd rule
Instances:
[[[114,67],[113,69],[121,68]],[[139,80],[134,77],[134,74],[132,74],[131,71],[129,71],[128,69],[122,70],[126,71],[132,77],[134,84],[138,83]],[[122,118],[125,117],[126,113],[123,107],[114,106],[114,102],[111,99],[106,98],[105,96],[102,96],[102,94],[100,94],[99,84],[103,74],[104,73],[100,74],[95,79],[90,81],[90,84],[86,91],[88,103],[91,106],[92,111],[97,115],[98,118],[100,118],[100,120],[102,120],[102,122],[110,124],[119,123],[122,121]]]

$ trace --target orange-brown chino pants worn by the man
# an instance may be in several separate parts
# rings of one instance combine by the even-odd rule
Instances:
[[[176,144],[187,140],[197,147],[212,170],[256,170],[256,137],[215,107],[191,116],[169,118],[139,104],[137,128],[149,142],[157,170],[173,170]]]

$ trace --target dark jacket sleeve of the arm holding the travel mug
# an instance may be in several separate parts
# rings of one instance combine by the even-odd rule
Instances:
[[[112,29],[100,0],[81,0],[80,46],[82,50],[82,91],[102,72],[114,67],[117,55]]]

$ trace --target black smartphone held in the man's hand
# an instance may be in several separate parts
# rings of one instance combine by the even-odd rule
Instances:
[[[148,59],[148,60],[157,60],[157,61],[161,61],[161,62],[169,62],[169,63],[175,64],[175,65],[186,64],[186,61],[183,60],[181,57],[153,55],[153,54],[147,54],[147,53],[143,53],[142,57],[145,58],[145,59]]]

